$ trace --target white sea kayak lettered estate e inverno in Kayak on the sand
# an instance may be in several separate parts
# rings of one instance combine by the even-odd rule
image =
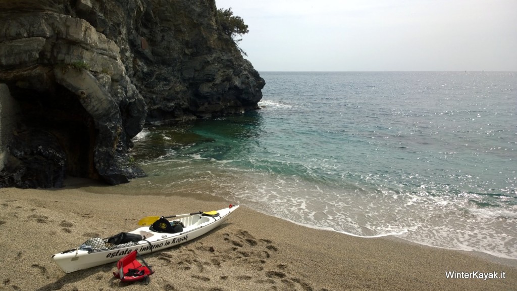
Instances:
[[[230,205],[228,208],[206,212],[210,215],[200,212],[178,218],[174,223],[183,224],[183,230],[177,233],[159,232],[149,226],[127,232],[126,234],[130,236],[142,237],[142,240],[136,242],[113,244],[108,242],[109,238],[92,238],[77,249],[53,255],[52,259],[65,273],[71,273],[112,263],[133,251],[138,251],[139,254],[161,251],[206,234],[227,220],[237,208],[239,208],[238,205]],[[187,214],[176,215],[176,217],[185,215]],[[173,223],[173,221],[170,222]]]

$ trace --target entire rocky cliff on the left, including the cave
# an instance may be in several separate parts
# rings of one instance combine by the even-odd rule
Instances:
[[[3,117],[14,125],[0,186],[128,182],[144,175],[129,152],[145,123],[257,109],[264,80],[216,11],[214,0],[0,0],[0,83],[19,112]]]

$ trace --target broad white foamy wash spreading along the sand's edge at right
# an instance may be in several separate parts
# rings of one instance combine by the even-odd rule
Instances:
[[[250,193],[237,196],[258,211],[310,228],[337,231],[361,238],[397,236],[438,248],[479,251],[512,259],[517,257],[517,252],[510,245],[511,239],[505,238],[504,232],[494,234],[494,231],[503,227],[494,225],[493,219],[515,217],[515,213],[508,210],[491,212],[485,209],[468,209],[462,214],[455,210],[461,206],[460,202],[450,203],[439,196],[425,197],[423,194],[417,196],[403,193],[381,196],[389,199],[384,202],[378,201],[378,195],[372,195],[371,198],[377,203],[369,201],[368,196],[362,196],[361,200],[341,197],[338,199],[346,199],[336,202],[337,197],[332,198],[332,195],[326,193],[326,189],[319,190],[320,194],[317,196],[317,203],[325,206],[315,209],[315,197],[300,199],[289,194],[297,190],[297,195],[300,195],[300,185],[291,183],[292,181],[284,178],[269,186],[263,185],[259,191],[263,194],[259,196]],[[395,200],[400,200],[400,206],[393,204]],[[334,205],[334,208],[329,205]],[[440,212],[444,214],[439,214]],[[450,214],[445,214],[447,212]],[[474,217],[469,218],[468,215]],[[486,225],[483,225],[480,220],[485,219]]]

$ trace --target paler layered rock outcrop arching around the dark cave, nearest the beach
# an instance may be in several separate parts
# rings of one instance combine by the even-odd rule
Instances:
[[[116,43],[65,11],[10,5],[0,16],[0,81],[19,104],[20,125],[0,185],[58,187],[66,174],[110,184],[143,176],[128,150],[143,128],[145,101]]]

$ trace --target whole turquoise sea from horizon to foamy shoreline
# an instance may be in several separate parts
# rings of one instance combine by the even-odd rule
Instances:
[[[134,186],[517,259],[517,72],[261,76],[262,110],[139,134]]]

